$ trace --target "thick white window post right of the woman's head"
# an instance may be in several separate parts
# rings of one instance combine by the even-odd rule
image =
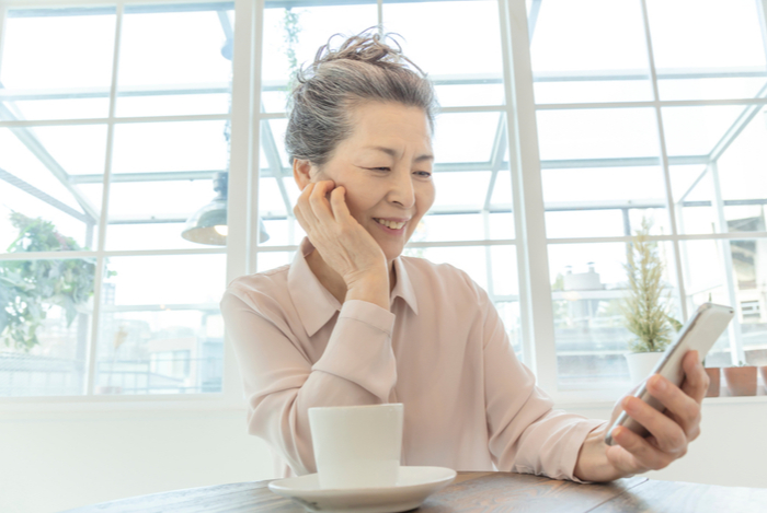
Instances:
[[[527,12],[524,0],[500,0],[499,7],[514,219],[522,242],[517,259],[524,360],[538,384],[553,392],[557,354]]]

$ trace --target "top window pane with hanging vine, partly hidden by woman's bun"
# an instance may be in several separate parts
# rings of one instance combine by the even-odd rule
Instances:
[[[264,10],[262,109],[284,112],[287,84],[299,67],[314,60],[333,34],[348,36],[378,23],[376,2],[359,0],[341,5],[296,8],[290,1],[268,2]],[[317,2],[320,3],[320,2]],[[281,4],[288,5],[286,8]],[[339,45],[336,37],[334,44]]]

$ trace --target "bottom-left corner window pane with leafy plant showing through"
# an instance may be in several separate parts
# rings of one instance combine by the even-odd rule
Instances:
[[[94,276],[93,260],[0,261],[0,396],[83,393]]]

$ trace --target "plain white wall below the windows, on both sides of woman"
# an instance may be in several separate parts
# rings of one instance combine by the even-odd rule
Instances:
[[[606,418],[610,408],[568,408]],[[54,512],[272,477],[244,412],[0,412],[0,511]],[[701,436],[655,479],[767,488],[767,397],[707,399]]]

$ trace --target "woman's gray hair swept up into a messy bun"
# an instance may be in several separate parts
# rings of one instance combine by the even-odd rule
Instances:
[[[381,38],[370,33],[374,28],[348,37],[333,50],[331,40],[340,35],[335,34],[320,47],[314,61],[298,71],[285,133],[291,162],[301,159],[324,165],[339,143],[352,135],[351,109],[368,101],[420,107],[434,131],[438,106],[432,82],[402,55],[390,34]],[[387,37],[396,48],[381,40]]]

